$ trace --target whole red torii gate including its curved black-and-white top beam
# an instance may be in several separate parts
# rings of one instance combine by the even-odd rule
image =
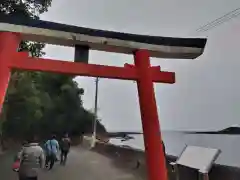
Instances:
[[[61,37],[60,35],[59,37],[56,37],[58,36],[57,33],[59,33],[59,30],[56,31],[56,29],[54,29],[52,34],[50,33],[51,35],[46,35],[44,34],[45,32],[43,32],[43,30],[35,31],[36,27],[33,27],[33,25],[29,24],[26,25],[25,22],[22,22],[21,25],[16,24],[16,21],[14,23],[10,22],[12,21],[9,21],[9,19],[5,22],[0,22],[0,112],[2,109],[2,104],[4,102],[4,97],[6,95],[6,90],[8,87],[8,82],[12,69],[47,71],[111,79],[135,80],[137,81],[139,94],[139,103],[146,151],[146,162],[148,167],[148,177],[149,180],[167,180],[167,171],[165,157],[163,154],[163,147],[161,144],[161,133],[158,121],[153,82],[173,84],[175,83],[175,73],[161,71],[160,66],[151,67],[150,56],[193,59],[202,54],[206,40],[192,39],[194,41],[200,41],[199,43],[195,43],[195,45],[193,45],[194,43],[185,43],[183,45],[181,45],[180,42],[176,43],[180,43],[179,46],[184,46],[183,49],[181,49],[181,47],[177,45],[173,45],[173,49],[170,49],[169,47],[166,48],[166,46],[171,46],[171,43],[167,42],[165,43],[164,49],[162,45],[159,45],[157,43],[140,42],[141,44],[139,44],[139,40],[132,39],[125,39],[124,42],[122,42],[123,40],[121,38],[109,38],[107,37],[108,35],[104,37],[104,41],[102,41],[102,39],[100,39],[100,41],[97,41],[96,39],[93,39],[96,38],[96,35],[89,36],[88,34],[88,36],[85,37],[85,34],[82,32],[79,35],[80,38],[78,37],[78,34],[75,34],[74,38],[69,39],[68,37],[64,36],[66,34],[63,34],[62,32],[62,34],[60,33]],[[43,21],[39,22],[43,23]],[[24,26],[24,28],[19,28],[19,26]],[[26,27],[29,27],[29,29],[27,29]],[[40,29],[40,27],[37,28],[38,30]],[[72,34],[73,32],[71,32],[71,36]],[[101,38],[103,37],[102,35],[99,35],[97,38],[99,38],[100,36]],[[85,40],[83,40],[84,37]],[[148,37],[149,36],[145,36],[145,38]],[[80,44],[85,45],[84,47],[88,47],[91,49],[128,54],[133,53],[135,65],[125,64],[124,67],[113,67],[87,64],[79,61],[65,62],[60,60],[33,58],[29,57],[28,52],[17,52],[21,40],[26,39],[59,45],[75,46],[76,44]],[[119,39],[120,41],[118,41]],[[135,42],[135,44],[133,43],[133,41]],[[127,45],[126,42],[128,42]],[[161,43],[164,44],[164,42]],[[153,44],[157,45],[154,46]],[[82,54],[83,56],[87,54],[88,56],[88,48],[87,50],[85,49],[84,51],[79,51],[80,54]]]

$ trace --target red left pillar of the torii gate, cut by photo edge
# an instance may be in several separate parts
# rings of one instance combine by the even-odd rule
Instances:
[[[9,65],[16,55],[19,43],[20,38],[17,34],[0,32],[0,113],[11,76]]]

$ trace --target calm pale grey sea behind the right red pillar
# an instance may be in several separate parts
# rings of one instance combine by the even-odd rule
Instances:
[[[186,145],[217,148],[221,150],[216,160],[217,164],[240,167],[240,135],[187,134],[165,131],[162,132],[162,136],[169,155],[179,156]],[[143,136],[133,135],[133,137],[134,139],[123,142],[119,139],[111,139],[110,143],[144,150]]]

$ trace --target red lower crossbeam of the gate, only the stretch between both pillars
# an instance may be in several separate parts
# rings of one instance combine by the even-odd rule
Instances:
[[[42,59],[42,58],[16,58],[12,64],[12,68],[47,71],[53,73],[63,73],[69,75],[105,77],[114,79],[136,79],[135,69],[127,69],[122,67],[103,66],[96,64],[74,63],[67,61]]]

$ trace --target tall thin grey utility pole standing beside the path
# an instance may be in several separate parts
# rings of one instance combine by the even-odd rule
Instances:
[[[99,77],[96,77],[95,80],[95,102],[94,102],[94,122],[93,122],[93,134],[92,134],[92,146],[91,148],[95,147],[96,144],[96,135],[97,135],[97,110],[98,110],[98,82]]]

